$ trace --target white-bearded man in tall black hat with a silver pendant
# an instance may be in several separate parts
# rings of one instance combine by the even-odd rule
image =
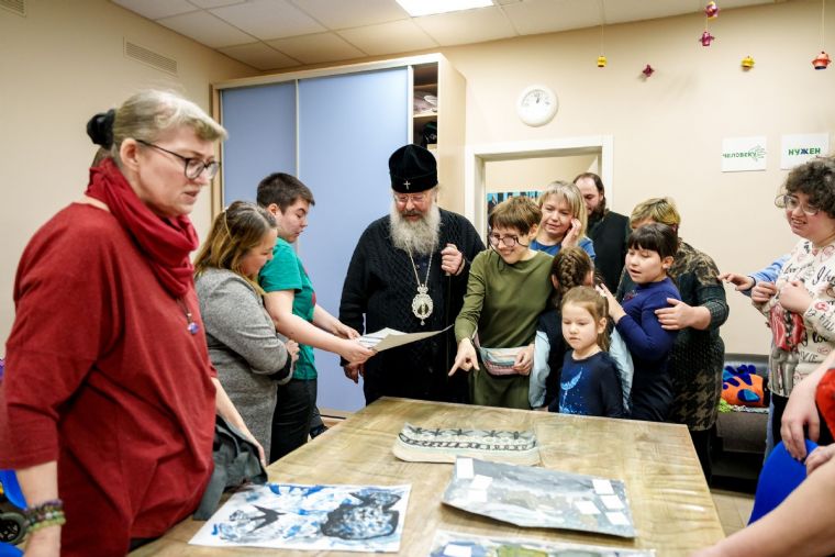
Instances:
[[[455,322],[467,290],[469,264],[485,248],[464,216],[437,205],[435,156],[417,145],[389,159],[391,211],[368,225],[350,259],[339,320],[357,331],[441,331]],[[390,348],[360,366],[366,404],[380,397],[467,401],[467,380],[448,377],[457,346],[453,330]],[[343,365],[346,363],[343,361]]]

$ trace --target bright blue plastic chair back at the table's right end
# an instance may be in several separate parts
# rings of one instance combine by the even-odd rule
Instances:
[[[816,443],[806,439],[806,454],[817,447]],[[757,492],[754,495],[754,509],[750,512],[748,524],[770,513],[777,505],[794,491],[794,488],[806,479],[806,465],[794,460],[786,450],[782,442],[775,445],[768,455],[762,471],[757,480]]]

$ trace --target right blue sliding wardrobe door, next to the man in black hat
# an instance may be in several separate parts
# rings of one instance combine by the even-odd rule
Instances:
[[[391,207],[388,159],[408,142],[410,108],[404,67],[299,81],[298,170],[316,204],[298,249],[318,303],[334,315],[359,235]],[[345,378],[338,356],[315,357],[319,405],[363,408],[363,390]]]

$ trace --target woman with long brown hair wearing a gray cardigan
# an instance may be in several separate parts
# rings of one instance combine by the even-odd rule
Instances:
[[[276,387],[290,379],[299,350],[298,344],[276,333],[257,282],[275,243],[275,218],[252,203],[235,201],[214,219],[194,264],[209,357],[244,422],[267,450]]]

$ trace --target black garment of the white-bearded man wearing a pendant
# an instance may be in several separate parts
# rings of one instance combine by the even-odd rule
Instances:
[[[467,291],[469,265],[485,249],[476,229],[464,216],[441,210],[438,248],[428,256],[409,254],[391,243],[390,218],[372,222],[363,233],[345,277],[339,321],[360,332],[390,327],[404,333],[439,331],[455,323]],[[454,244],[465,258],[464,270],[448,277],[441,270],[441,249]],[[412,312],[417,279],[426,280],[432,314],[424,324]],[[365,319],[364,319],[365,318]],[[453,328],[446,333],[383,350],[365,364],[366,404],[383,396],[467,402],[467,374],[447,377],[457,346]]]

